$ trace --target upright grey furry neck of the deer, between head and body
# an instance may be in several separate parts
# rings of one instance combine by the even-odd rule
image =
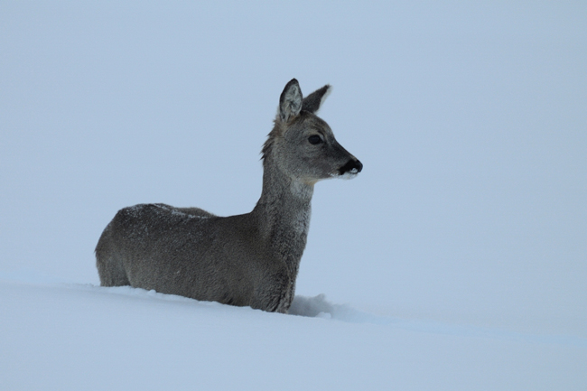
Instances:
[[[294,281],[310,228],[313,184],[292,179],[267,165],[261,198],[253,213],[266,242],[288,266]]]

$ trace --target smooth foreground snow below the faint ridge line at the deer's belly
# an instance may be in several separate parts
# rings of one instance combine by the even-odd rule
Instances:
[[[320,296],[296,298],[303,317],[91,284],[3,280],[0,295],[5,390],[587,385],[585,338],[376,316]]]

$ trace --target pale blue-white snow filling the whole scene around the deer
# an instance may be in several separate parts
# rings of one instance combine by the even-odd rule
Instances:
[[[587,389],[587,5],[390,3],[0,3],[0,390]],[[292,78],[365,164],[308,316],[99,288],[116,210],[254,207]]]

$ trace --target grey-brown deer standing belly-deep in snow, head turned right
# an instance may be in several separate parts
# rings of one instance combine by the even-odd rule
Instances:
[[[246,214],[219,217],[162,203],[118,210],[96,247],[101,286],[287,313],[310,227],[314,185],[363,168],[316,115],[330,85],[303,98],[296,79],[281,93],[262,148],[263,189]]]

